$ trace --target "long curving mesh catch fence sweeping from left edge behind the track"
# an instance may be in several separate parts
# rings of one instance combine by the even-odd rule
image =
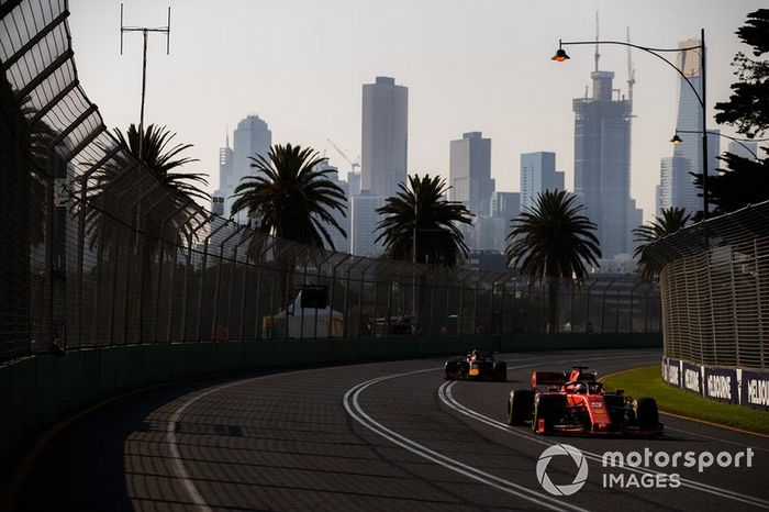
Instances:
[[[0,0],[0,361],[59,347],[533,333],[540,282],[277,240],[158,182],[107,131],[64,0]],[[327,309],[293,307],[324,287]],[[658,332],[658,291],[564,282],[559,329]]]

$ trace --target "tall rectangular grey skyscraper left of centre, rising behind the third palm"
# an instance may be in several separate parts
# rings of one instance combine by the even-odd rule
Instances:
[[[377,77],[364,85],[360,188],[390,197],[406,179],[409,89]]]

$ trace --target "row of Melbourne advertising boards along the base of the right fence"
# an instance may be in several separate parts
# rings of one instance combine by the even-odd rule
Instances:
[[[662,359],[662,380],[710,400],[769,411],[767,371],[717,368],[666,357]]]

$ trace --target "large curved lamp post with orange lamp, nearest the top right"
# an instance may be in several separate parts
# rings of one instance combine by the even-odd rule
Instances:
[[[655,57],[659,58],[662,60],[665,64],[673,68],[679,75],[681,75],[681,78],[689,84],[689,87],[691,87],[692,91],[694,92],[694,96],[696,97],[696,100],[700,102],[700,107],[702,107],[702,131],[701,132],[693,132],[693,133],[699,133],[702,136],[702,213],[703,218],[707,219],[707,129],[706,129],[706,122],[707,122],[707,109],[705,108],[705,30],[701,29],[700,30],[700,44],[696,46],[688,46],[684,48],[653,48],[648,46],[640,46],[637,44],[632,44],[632,43],[626,43],[624,41],[561,41],[558,40],[558,51],[556,54],[551,57],[553,60],[557,63],[564,63],[568,60],[569,57],[566,51],[564,49],[564,46],[569,46],[569,45],[579,45],[579,44],[616,44],[621,46],[629,46],[632,48],[640,49],[643,52],[649,53],[654,55]],[[689,77],[681,71],[673,63],[665,58],[662,55],[664,53],[679,53],[679,52],[686,52],[688,49],[699,49],[700,51],[700,62],[701,62],[701,68],[702,68],[702,94],[696,90],[696,87],[691,82]],[[682,132],[682,131],[680,131]],[[680,141],[680,137],[679,137]]]

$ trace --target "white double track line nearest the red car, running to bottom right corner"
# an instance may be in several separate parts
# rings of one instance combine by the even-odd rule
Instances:
[[[551,445],[557,444],[555,442],[545,441],[545,439],[539,438],[539,437],[534,437],[533,435],[527,435],[527,434],[523,434],[522,432],[517,432],[514,428],[510,427],[510,425],[508,425],[506,423],[503,423],[501,421],[486,416],[481,413],[478,413],[478,412],[462,405],[461,403],[457,402],[456,399],[454,399],[454,397],[452,396],[452,387],[455,383],[456,382],[445,382],[441,386],[441,388],[438,388],[438,396],[441,397],[441,401],[444,402],[448,408],[450,408],[450,409],[453,409],[453,410],[455,410],[455,411],[457,411],[466,416],[469,416],[473,420],[480,421],[481,423],[484,423],[489,426],[493,426],[494,428],[499,428],[499,430],[509,432],[510,434],[515,435],[517,437],[521,437],[523,439],[527,439],[527,441],[531,441],[533,443],[538,443],[538,444],[545,445],[545,446],[551,446]],[[581,448],[580,448],[580,452],[582,452],[582,454],[584,454],[584,456],[587,458],[589,458],[590,460],[598,461],[598,463],[603,461],[602,456],[599,454],[595,454],[592,452],[587,452],[587,450],[581,449]],[[623,470],[629,471],[629,472],[642,474],[642,475],[664,475],[661,471],[655,471],[655,470],[650,470],[650,469],[639,469],[639,468],[633,468],[633,467],[624,467]],[[702,482],[698,482],[698,481],[686,479],[686,478],[681,478],[680,481],[681,481],[681,486],[683,486],[683,487],[689,487],[691,489],[707,492],[710,494],[715,494],[715,496],[718,496],[721,498],[726,498],[729,500],[739,501],[743,503],[750,504],[753,507],[758,507],[760,509],[769,509],[769,501],[764,500],[761,498],[742,494],[742,493],[738,493],[735,491],[731,491],[728,489],[722,489],[722,488],[718,488],[715,486],[710,486],[707,483],[702,483]]]

